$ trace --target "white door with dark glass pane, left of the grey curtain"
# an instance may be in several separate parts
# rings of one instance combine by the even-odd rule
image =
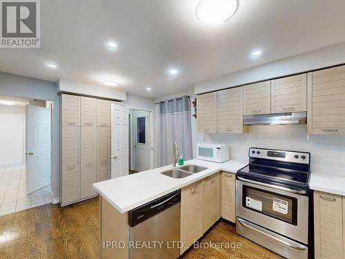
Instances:
[[[142,172],[150,168],[150,113],[135,111],[133,114],[133,143],[135,171]]]

